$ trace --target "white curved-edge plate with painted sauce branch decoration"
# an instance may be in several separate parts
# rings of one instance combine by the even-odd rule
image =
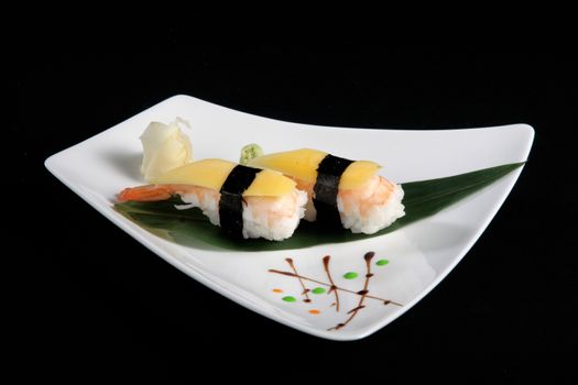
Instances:
[[[237,161],[247,143],[266,152],[318,147],[349,158],[367,158],[384,165],[382,174],[402,183],[429,179],[521,162],[527,158],[534,131],[526,124],[444,131],[396,131],[327,128],[257,117],[188,96],[175,96],[138,116],[59,152],[46,167],[90,206],[165,261],[244,307],[301,331],[332,340],[368,337],[408,310],[434,288],[461,260],[493,218],[517,179],[521,168],[480,193],[441,212],[390,234],[350,243],[302,250],[232,252],[199,244],[182,246],[152,235],[112,209],[122,188],[143,184],[139,174],[140,134],[151,121],[170,122],[181,117],[190,122],[195,158]],[[96,241],[96,240],[95,240]],[[366,307],[342,328],[348,312],[359,305],[366,275],[363,254],[374,251]],[[308,293],[288,271],[291,257],[299,275],[328,283],[323,257],[330,255],[329,271],[338,290]],[[389,261],[383,266],[379,260]],[[356,279],[343,274],[357,272]],[[303,280],[307,288],[324,287]],[[279,290],[282,293],[277,293]],[[351,290],[349,293],[347,290]],[[283,300],[294,297],[293,302]],[[392,300],[402,306],[384,302]],[[310,312],[318,310],[318,314]],[[207,315],[206,317],[210,317]]]

